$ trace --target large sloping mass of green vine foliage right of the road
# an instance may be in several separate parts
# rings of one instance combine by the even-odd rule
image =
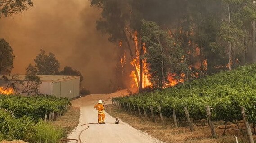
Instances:
[[[250,123],[256,123],[256,64],[238,67],[233,71],[222,71],[213,76],[185,82],[173,88],[132,96],[116,97],[121,107],[129,109],[129,104],[138,110],[144,108],[150,113],[165,117],[175,115],[178,121],[186,118],[186,108],[193,120],[208,120],[206,106],[210,106],[211,120],[236,122],[243,120],[241,107]]]

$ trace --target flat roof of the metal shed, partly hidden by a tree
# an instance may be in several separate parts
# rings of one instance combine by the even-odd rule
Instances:
[[[19,74],[13,74],[13,75],[5,75],[8,77],[8,79],[11,79],[12,76],[15,76],[13,80],[24,80],[26,75],[19,75]],[[43,82],[59,82],[64,80],[72,80],[76,78],[80,78],[80,76],[67,76],[67,75],[37,75],[40,77],[40,80]]]

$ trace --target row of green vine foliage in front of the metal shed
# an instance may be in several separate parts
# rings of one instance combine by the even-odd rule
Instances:
[[[0,95],[0,108],[12,111],[13,116],[18,118],[28,116],[37,120],[44,118],[45,113],[58,112],[69,104],[68,98],[54,96]]]

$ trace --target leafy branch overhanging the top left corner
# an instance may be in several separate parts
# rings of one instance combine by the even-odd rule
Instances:
[[[0,0],[0,17],[21,13],[33,6],[32,0]]]

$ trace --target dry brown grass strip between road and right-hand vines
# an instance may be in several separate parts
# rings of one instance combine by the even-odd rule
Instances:
[[[107,105],[105,110],[111,116],[120,118],[135,129],[144,131],[166,143],[235,143],[234,136],[238,137],[238,143],[248,143],[247,136],[243,136],[240,130],[226,130],[225,136],[222,136],[223,129],[219,129],[219,127],[224,127],[223,125],[216,126],[217,137],[212,138],[209,126],[195,126],[195,131],[190,132],[189,126],[185,126],[185,124],[179,125],[183,127],[174,128],[171,118],[165,118],[163,125],[159,118],[156,119],[156,123],[152,122],[150,118],[148,120],[140,119],[135,115],[127,114],[125,111],[119,112],[114,105]],[[218,124],[220,123],[218,122]],[[239,126],[243,128],[243,124]],[[229,125],[228,127],[236,128],[236,125]],[[254,140],[256,140],[255,135]]]

